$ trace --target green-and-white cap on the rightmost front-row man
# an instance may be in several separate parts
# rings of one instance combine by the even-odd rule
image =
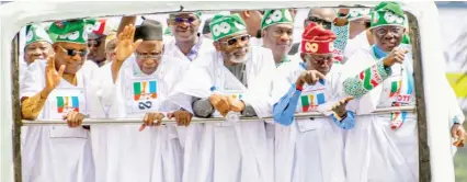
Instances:
[[[372,10],[372,21],[369,29],[405,24],[403,10],[397,2],[381,2]]]

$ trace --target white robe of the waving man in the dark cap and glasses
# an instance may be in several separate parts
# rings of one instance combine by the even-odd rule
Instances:
[[[92,104],[91,117],[143,121],[147,112],[178,110],[164,104],[164,100],[189,64],[163,56],[158,69],[148,76],[140,71],[135,57],[130,57],[122,65],[116,83],[112,79],[112,64],[107,64],[100,69],[100,81],[93,86],[96,102]],[[140,124],[92,126],[95,181],[181,181],[183,151],[175,125],[146,127],[143,132],[139,127]]]

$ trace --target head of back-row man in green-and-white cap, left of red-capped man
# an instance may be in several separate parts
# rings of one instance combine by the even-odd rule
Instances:
[[[291,11],[266,10],[261,21],[261,30],[263,46],[272,50],[276,66],[291,61],[287,56],[294,38],[294,18]]]

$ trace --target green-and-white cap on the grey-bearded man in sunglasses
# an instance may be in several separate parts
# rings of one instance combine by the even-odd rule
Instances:
[[[214,41],[247,32],[247,26],[239,14],[216,14],[209,23],[209,29]]]

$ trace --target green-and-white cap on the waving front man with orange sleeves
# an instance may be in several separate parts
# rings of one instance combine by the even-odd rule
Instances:
[[[87,44],[88,34],[94,29],[95,20],[71,20],[55,22],[48,29],[49,33],[56,34],[55,43]]]

